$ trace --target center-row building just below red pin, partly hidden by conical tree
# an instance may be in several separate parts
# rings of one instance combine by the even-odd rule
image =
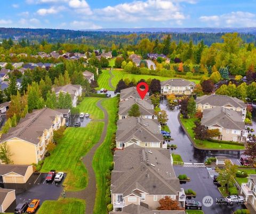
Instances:
[[[138,98],[131,98],[129,100],[121,101],[119,103],[119,119],[125,119],[129,116],[129,111],[133,104],[139,105],[140,117],[148,119],[157,119],[152,101],[141,100]]]

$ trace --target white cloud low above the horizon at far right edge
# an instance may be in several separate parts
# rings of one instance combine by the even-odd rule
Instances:
[[[211,15],[200,17],[199,20],[206,22],[209,26],[217,27],[255,27],[256,15],[249,12],[231,12],[222,15]]]

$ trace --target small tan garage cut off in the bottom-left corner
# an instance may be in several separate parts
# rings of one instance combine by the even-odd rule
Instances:
[[[5,212],[15,199],[15,190],[0,187],[0,213]]]

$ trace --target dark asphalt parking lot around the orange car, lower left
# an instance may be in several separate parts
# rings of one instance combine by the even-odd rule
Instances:
[[[16,190],[16,200],[6,212],[13,212],[17,204],[23,201],[31,202],[33,199],[39,199],[40,204],[42,204],[45,200],[58,200],[63,192],[62,184],[67,174],[64,174],[62,182],[58,185],[54,182],[46,183],[46,176],[47,173],[34,174],[29,178],[27,184],[19,186],[16,184],[9,184],[5,186],[5,188],[13,188]]]

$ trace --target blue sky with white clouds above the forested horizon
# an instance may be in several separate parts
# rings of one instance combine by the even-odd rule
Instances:
[[[256,27],[256,0],[1,0],[0,27]]]

